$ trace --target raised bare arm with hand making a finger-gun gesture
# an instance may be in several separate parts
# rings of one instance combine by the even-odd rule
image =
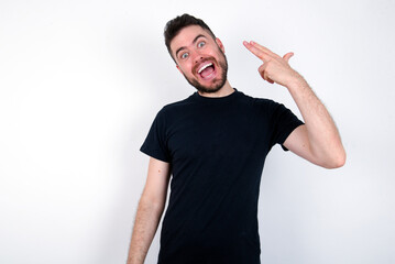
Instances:
[[[306,125],[295,129],[284,146],[319,166],[341,167],[345,162],[345,152],[338,129],[307,81],[289,66],[288,61],[294,54],[281,57],[255,42],[243,44],[263,62],[259,68],[262,78],[286,87],[304,118]]]

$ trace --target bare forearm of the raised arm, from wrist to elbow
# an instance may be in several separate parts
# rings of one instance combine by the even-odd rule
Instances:
[[[286,87],[306,123],[311,154],[330,166],[341,166],[345,160],[345,152],[327,108],[299,74],[296,73]]]

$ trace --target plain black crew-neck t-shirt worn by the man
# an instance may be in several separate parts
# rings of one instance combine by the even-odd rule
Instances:
[[[265,157],[300,124],[283,105],[238,90],[165,106],[141,147],[172,166],[158,264],[259,264]]]

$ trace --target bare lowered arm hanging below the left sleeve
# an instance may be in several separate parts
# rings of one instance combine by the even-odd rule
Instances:
[[[160,223],[167,196],[169,164],[151,157],[144,191],[135,216],[127,264],[143,264]]]

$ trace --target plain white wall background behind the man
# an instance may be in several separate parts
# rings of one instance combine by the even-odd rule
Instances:
[[[273,148],[262,262],[395,263],[392,0],[1,0],[0,263],[125,262],[149,161],[139,148],[156,112],[195,91],[163,42],[184,12],[223,42],[233,87],[299,116],[242,41],[294,52],[348,153],[326,170]],[[157,252],[156,235],[147,264]]]

